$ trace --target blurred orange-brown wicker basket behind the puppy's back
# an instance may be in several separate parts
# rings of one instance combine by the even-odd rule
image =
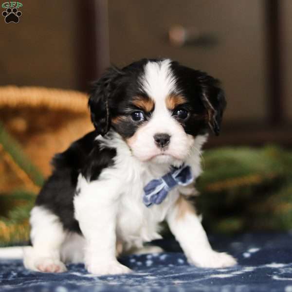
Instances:
[[[33,164],[48,176],[50,161],[91,131],[86,94],[41,87],[0,87],[0,122]],[[0,193],[33,185],[0,144]]]

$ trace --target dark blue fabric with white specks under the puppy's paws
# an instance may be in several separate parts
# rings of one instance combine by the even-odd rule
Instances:
[[[187,264],[173,240],[157,241],[167,252],[122,258],[132,274],[97,277],[81,264],[68,272],[27,271],[20,260],[0,260],[0,291],[29,292],[292,292],[292,235],[245,234],[210,237],[214,248],[237,257],[238,265],[200,269]]]

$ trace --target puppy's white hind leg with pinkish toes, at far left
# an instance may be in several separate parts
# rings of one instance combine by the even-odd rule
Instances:
[[[36,206],[31,211],[30,223],[33,246],[24,248],[24,266],[39,272],[65,272],[66,267],[60,260],[60,248],[66,233],[58,217],[46,208]]]

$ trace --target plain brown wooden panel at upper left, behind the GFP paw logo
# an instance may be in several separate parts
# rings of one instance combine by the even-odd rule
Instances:
[[[0,16],[0,86],[80,89],[79,0],[20,2],[17,24],[6,24]]]

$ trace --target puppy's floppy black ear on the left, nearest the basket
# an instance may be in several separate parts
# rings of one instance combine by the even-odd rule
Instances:
[[[92,84],[88,101],[91,122],[98,134],[102,136],[110,129],[109,99],[115,90],[114,81],[120,74],[121,71],[118,68],[111,67]]]

